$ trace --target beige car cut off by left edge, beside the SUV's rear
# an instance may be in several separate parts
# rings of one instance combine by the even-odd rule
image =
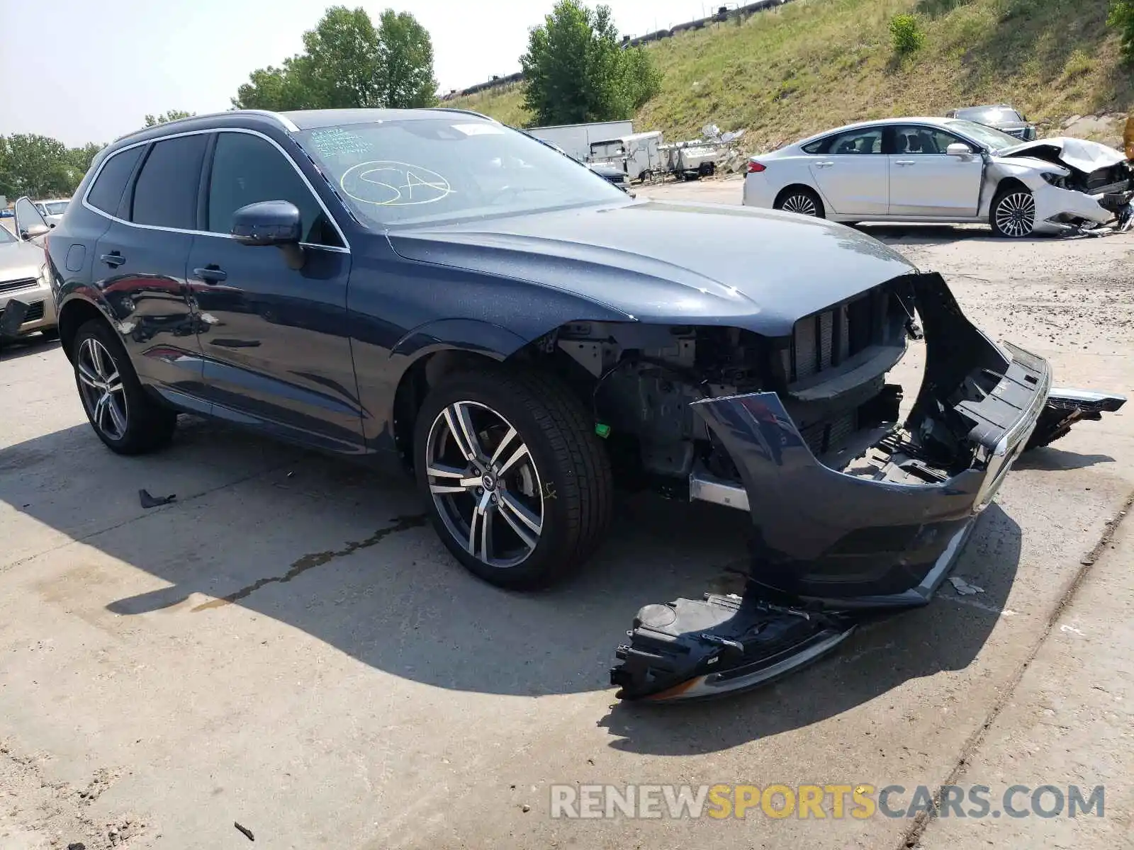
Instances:
[[[43,248],[0,227],[0,342],[35,331],[58,335]]]

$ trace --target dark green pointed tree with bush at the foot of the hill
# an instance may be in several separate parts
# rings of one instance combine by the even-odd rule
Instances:
[[[661,76],[643,48],[621,48],[610,7],[559,0],[532,29],[524,105],[539,124],[629,118],[658,93]]]

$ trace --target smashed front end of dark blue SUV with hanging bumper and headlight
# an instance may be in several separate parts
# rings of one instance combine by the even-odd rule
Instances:
[[[888,375],[909,339],[924,339],[925,360],[903,416]],[[596,376],[600,433],[633,467],[624,478],[753,524],[743,596],[637,613],[611,670],[624,699],[752,688],[864,618],[926,604],[1019,453],[1125,401],[1052,389],[1048,363],[992,342],[937,273],[830,305],[787,337],[582,323],[556,345]]]

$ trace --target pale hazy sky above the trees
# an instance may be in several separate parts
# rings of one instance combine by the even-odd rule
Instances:
[[[413,14],[433,40],[441,92],[519,70],[527,32],[553,0],[340,0]],[[105,143],[171,109],[228,109],[248,74],[299,52],[328,2],[0,0],[0,135]],[[591,2],[590,5],[596,5]],[[721,1],[607,0],[620,34],[711,14]],[[178,8],[180,6],[180,8]]]

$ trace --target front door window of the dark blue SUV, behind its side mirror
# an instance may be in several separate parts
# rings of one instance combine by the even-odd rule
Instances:
[[[319,201],[273,144],[247,133],[219,134],[209,179],[209,230],[229,232],[232,213],[259,201],[290,201],[299,209],[303,241],[342,246]]]

